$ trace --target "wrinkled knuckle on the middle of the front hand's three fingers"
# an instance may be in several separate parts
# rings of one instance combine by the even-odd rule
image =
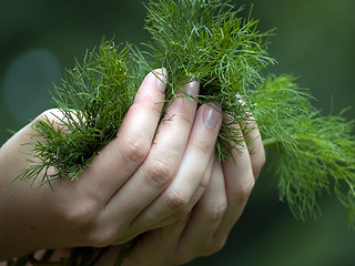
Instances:
[[[145,175],[152,187],[165,186],[175,175],[176,170],[170,163],[159,158],[150,160],[145,168]]]

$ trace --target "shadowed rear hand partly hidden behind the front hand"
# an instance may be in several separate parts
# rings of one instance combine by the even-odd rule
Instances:
[[[248,147],[234,152],[234,161],[211,161],[206,174],[211,181],[189,217],[138,238],[124,259],[124,266],[182,265],[197,256],[220,250],[231,228],[241,216],[250,193],[265,162],[257,129],[246,133],[254,140]],[[99,266],[113,265],[121,247],[112,247]]]

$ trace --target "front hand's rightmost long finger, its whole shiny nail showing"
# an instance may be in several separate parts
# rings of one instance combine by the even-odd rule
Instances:
[[[215,106],[202,105],[193,124],[183,161],[170,186],[135,221],[136,226],[151,226],[156,217],[185,216],[186,205],[197,191],[211,161],[222,115]]]

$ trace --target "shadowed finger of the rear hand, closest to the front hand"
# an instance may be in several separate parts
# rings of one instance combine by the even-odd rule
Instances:
[[[189,260],[195,256],[215,253],[220,248],[214,233],[220,227],[227,207],[221,163],[213,161],[210,185],[196,206],[180,238],[178,257]]]

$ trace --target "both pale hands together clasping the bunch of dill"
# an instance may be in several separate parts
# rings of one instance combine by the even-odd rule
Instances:
[[[222,248],[265,161],[260,133],[248,132],[255,141],[221,163],[214,156],[222,124],[216,106],[197,109],[178,98],[168,109],[173,119],[159,125],[166,76],[159,71],[160,78],[146,75],[118,137],[78,182],[62,178],[54,192],[11,183],[30,166],[19,151],[30,152],[21,145],[33,141],[31,125],[1,147],[0,260],[42,248],[110,245],[100,262],[109,265],[138,235],[126,266],[184,264]],[[199,94],[197,82],[183,89]],[[55,121],[52,112],[42,116]]]

